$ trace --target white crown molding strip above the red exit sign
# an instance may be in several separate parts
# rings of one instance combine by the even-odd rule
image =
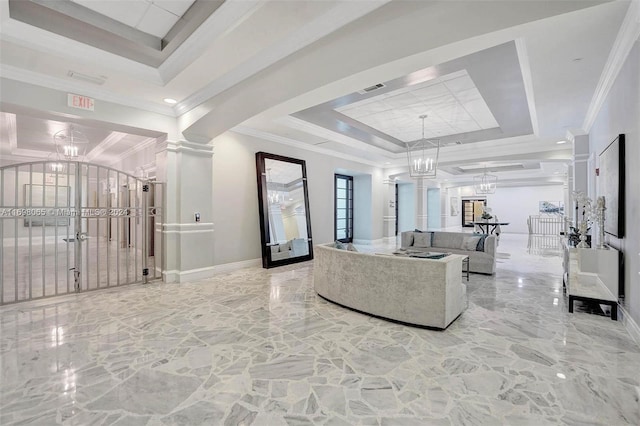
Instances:
[[[107,89],[94,88],[84,83],[40,74],[24,68],[14,67],[12,65],[0,64],[0,75],[2,75],[2,78],[8,80],[33,84],[35,86],[46,87],[48,89],[54,89],[61,92],[82,94],[105,102],[137,108],[156,114],[167,115],[169,117],[176,117],[173,107],[170,106],[132,99],[127,96],[114,94]]]

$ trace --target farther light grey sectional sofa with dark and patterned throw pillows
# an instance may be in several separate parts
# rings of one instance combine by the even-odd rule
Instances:
[[[468,239],[474,236],[477,237],[477,235],[467,232],[405,231],[401,234],[401,248],[414,251],[465,254],[469,256],[469,271],[482,274],[495,274],[497,248],[495,235],[485,237],[484,249],[482,251],[476,250],[476,245],[463,248],[465,238]]]

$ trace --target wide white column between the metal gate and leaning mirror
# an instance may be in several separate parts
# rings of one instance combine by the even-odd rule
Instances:
[[[184,140],[167,141],[156,154],[157,179],[165,183],[166,195],[162,218],[166,282],[213,275],[212,157],[211,145]]]

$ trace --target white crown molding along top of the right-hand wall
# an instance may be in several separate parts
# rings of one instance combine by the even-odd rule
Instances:
[[[611,52],[607,58],[607,63],[600,75],[600,80],[596,86],[596,91],[591,98],[587,115],[585,116],[582,128],[588,133],[591,131],[593,123],[595,123],[602,104],[607,99],[611,87],[616,81],[620,70],[629,56],[629,52],[633,48],[640,37],[640,0],[632,0],[627,9],[627,14],[620,26],[618,36],[611,47]]]

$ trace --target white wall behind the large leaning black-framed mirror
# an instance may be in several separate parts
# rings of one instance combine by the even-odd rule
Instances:
[[[306,161],[314,244],[333,241],[334,174],[349,170],[371,178],[370,238],[383,236],[382,169],[235,132],[213,141],[214,264],[261,257],[255,153],[264,151]],[[357,188],[356,188],[357,189]],[[358,212],[356,221],[359,220]],[[366,219],[368,220],[368,219]]]

